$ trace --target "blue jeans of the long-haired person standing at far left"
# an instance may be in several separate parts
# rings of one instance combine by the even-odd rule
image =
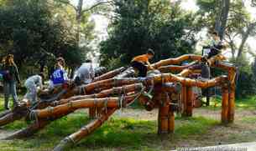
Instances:
[[[3,82],[4,107],[8,109],[9,96],[12,94],[13,106],[18,105],[18,96],[16,93],[16,82]]]

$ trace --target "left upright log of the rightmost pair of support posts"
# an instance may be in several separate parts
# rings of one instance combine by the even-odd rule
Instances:
[[[228,114],[228,89],[222,88],[222,123],[227,123]]]

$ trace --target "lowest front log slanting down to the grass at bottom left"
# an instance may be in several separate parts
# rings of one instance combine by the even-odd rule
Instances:
[[[54,148],[54,151],[62,151],[67,148],[71,148],[72,145],[78,143],[82,138],[86,137],[94,130],[102,126],[102,124],[107,121],[107,119],[114,113],[118,108],[107,109],[106,114],[102,114],[100,118],[94,119],[91,123],[87,124],[81,128],[76,133],[72,133],[70,136],[61,140],[60,143]]]

